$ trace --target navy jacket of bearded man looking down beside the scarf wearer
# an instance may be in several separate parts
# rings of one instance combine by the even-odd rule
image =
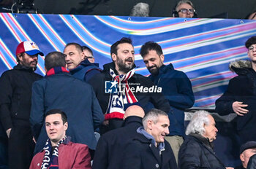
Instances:
[[[192,85],[186,74],[176,71],[170,63],[161,66],[157,76],[150,75],[149,78],[162,87],[162,93],[170,104],[169,135],[184,136],[184,110],[193,106],[195,102]]]

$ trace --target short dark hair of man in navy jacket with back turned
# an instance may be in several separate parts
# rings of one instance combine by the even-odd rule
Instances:
[[[66,67],[65,55],[61,52],[48,53],[45,56],[45,68],[47,71],[57,66]]]

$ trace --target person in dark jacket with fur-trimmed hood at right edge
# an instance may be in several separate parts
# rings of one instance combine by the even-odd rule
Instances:
[[[238,76],[230,79],[225,93],[216,101],[220,115],[237,114],[236,130],[240,145],[256,141],[256,36],[245,42],[250,60],[236,60],[230,63],[230,70]]]

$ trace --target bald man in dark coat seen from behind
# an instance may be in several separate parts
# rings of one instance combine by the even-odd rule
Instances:
[[[124,114],[121,128],[111,130],[99,138],[94,154],[93,169],[120,169],[121,154],[128,141],[138,134],[136,130],[142,126],[145,113],[140,106],[129,106]]]

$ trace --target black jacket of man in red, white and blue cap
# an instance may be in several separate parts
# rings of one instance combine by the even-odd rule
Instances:
[[[31,88],[42,76],[20,64],[0,78],[0,119],[4,130],[12,125],[30,127]]]

